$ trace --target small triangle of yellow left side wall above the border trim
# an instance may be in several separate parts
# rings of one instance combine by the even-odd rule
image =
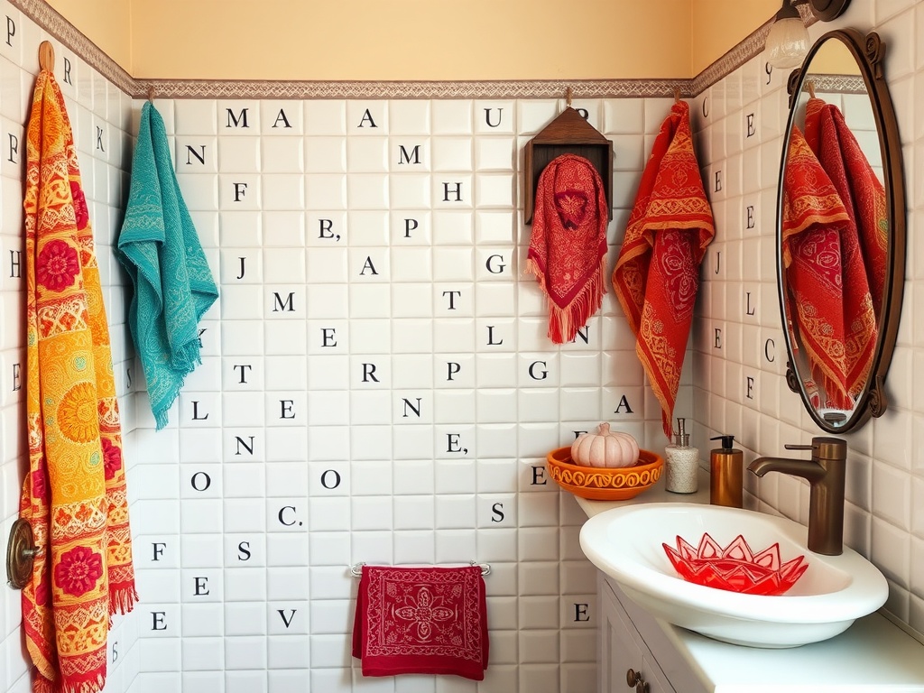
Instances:
[[[131,74],[131,0],[46,0]]]

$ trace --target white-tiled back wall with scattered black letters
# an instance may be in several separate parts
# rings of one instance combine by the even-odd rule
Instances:
[[[582,107],[640,141],[626,103],[657,109],[652,120],[668,105]],[[212,671],[225,690],[245,678],[288,690],[285,669],[336,682],[325,690],[369,687],[347,654],[348,566],[469,560],[492,565],[492,665],[477,689],[592,678],[594,570],[560,546],[582,516],[544,456],[604,419],[662,443],[641,376],[632,387],[615,376],[638,363],[616,302],[554,346],[541,292],[520,274],[530,228],[517,135],[557,104],[171,106],[180,186],[190,208],[217,215],[217,248],[203,243],[221,298],[203,322],[211,356],[170,427],[155,434],[139,416],[138,438],[158,450],[140,465],[137,565],[151,595],[140,631],[159,658],[139,686]],[[638,177],[641,163],[622,166]],[[165,497],[180,499],[178,523],[155,509]],[[215,602],[217,619],[194,609]],[[164,638],[183,645],[164,650]],[[442,688],[424,678],[419,689]]]

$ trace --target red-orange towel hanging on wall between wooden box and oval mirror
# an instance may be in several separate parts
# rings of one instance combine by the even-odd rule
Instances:
[[[699,263],[714,236],[693,151],[689,106],[681,101],[654,141],[613,271],[616,298],[661,403],[668,440],[699,290]]]

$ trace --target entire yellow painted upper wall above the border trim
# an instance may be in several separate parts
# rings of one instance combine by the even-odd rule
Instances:
[[[136,78],[694,77],[779,0],[48,0]]]

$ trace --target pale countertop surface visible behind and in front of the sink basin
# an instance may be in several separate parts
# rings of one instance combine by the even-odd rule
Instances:
[[[588,517],[614,507],[648,503],[709,503],[709,473],[699,470],[696,493],[670,493],[663,479],[628,501],[577,499]],[[635,607],[640,611],[639,607]],[[650,618],[650,616],[649,616]],[[796,691],[881,691],[924,693],[924,645],[886,616],[869,614],[841,635],[785,650],[748,648],[706,638],[686,628],[650,618],[711,693]],[[652,634],[646,634],[649,639]],[[650,642],[650,645],[655,643]],[[657,655],[657,652],[655,652]]]

